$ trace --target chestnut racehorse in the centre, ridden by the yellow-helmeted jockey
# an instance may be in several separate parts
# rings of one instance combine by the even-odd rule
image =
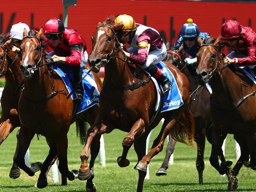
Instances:
[[[134,144],[138,158],[138,163],[134,168],[139,172],[137,185],[139,192],[143,190],[147,164],[163,149],[164,140],[170,132],[176,140],[192,145],[194,120],[188,109],[189,83],[186,76],[175,66],[165,63],[174,77],[178,79],[178,87],[184,105],[178,109],[160,113],[154,122],[150,122],[156,105],[154,84],[140,67],[127,61],[120,44],[126,42],[127,36],[121,31],[123,25],[115,24],[114,19],[109,17],[103,23],[99,22],[91,37],[93,50],[89,57],[89,65],[94,72],[99,72],[100,67],[104,65],[105,79],[100,93],[100,114],[98,114],[95,124],[88,130],[87,142],[81,155],[83,163],[78,178],[86,180],[90,177],[87,160],[89,147],[94,137],[110,133],[113,129],[118,128],[128,134],[122,141],[123,152],[122,156],[117,158],[117,163],[120,167],[130,164],[126,156]],[[154,140],[152,150],[145,155],[147,136],[162,118],[165,118],[165,122],[161,131]],[[102,122],[106,125],[104,129],[100,127]]]

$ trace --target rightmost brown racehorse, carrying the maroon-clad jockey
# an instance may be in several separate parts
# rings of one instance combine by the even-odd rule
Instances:
[[[197,75],[200,85],[209,82],[213,90],[210,163],[220,174],[228,175],[228,190],[236,190],[237,175],[249,155],[250,167],[256,170],[256,85],[240,68],[224,64],[219,46],[220,37],[202,44],[197,53]],[[228,133],[234,134],[241,148],[241,156],[234,168],[219,165],[217,157]]]

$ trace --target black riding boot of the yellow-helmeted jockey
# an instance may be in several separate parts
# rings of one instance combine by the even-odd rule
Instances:
[[[145,71],[149,72],[160,83],[163,89],[163,94],[169,92],[172,87],[172,83],[162,74],[161,70],[156,65],[150,64],[145,68]]]

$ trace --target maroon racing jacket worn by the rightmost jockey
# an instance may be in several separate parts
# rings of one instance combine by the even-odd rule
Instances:
[[[241,26],[242,31],[234,47],[224,41],[231,50],[247,57],[234,58],[234,63],[241,66],[256,65],[256,33],[250,27]]]

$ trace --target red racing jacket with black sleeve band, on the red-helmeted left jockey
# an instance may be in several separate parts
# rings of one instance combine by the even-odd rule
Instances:
[[[65,28],[61,42],[58,46],[54,47],[47,41],[48,45],[59,55],[66,57],[65,64],[80,66],[83,52],[86,50],[86,44],[83,37],[78,31]]]

